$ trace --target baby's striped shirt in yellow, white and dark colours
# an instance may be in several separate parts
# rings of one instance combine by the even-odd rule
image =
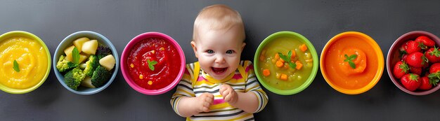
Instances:
[[[199,97],[201,94],[209,92],[214,95],[214,101],[209,107],[209,112],[193,115],[186,118],[186,120],[254,120],[252,113],[246,113],[223,100],[219,93],[221,84],[231,85],[236,92],[254,93],[259,102],[257,111],[254,113],[263,110],[268,102],[266,93],[261,89],[257,78],[255,78],[252,62],[241,61],[238,69],[223,80],[215,80],[200,69],[198,62],[195,62],[186,65],[183,78],[177,85],[177,90],[171,99],[173,110],[180,115],[177,105],[179,105],[181,97]]]

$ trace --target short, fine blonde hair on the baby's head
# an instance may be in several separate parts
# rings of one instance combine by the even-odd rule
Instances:
[[[197,32],[201,27],[214,30],[238,27],[239,31],[242,31],[239,36],[245,41],[245,25],[240,13],[226,5],[216,4],[200,10],[194,21],[193,41],[198,38]]]

